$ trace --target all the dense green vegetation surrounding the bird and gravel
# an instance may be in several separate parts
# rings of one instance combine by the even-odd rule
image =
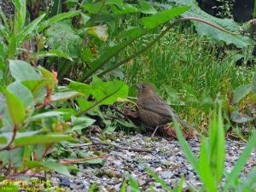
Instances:
[[[255,169],[247,184],[237,182],[256,146],[252,21],[239,25],[208,15],[195,0],[50,2],[14,0],[14,15],[0,9],[2,180],[41,170],[70,177],[65,165],[79,157],[61,161],[51,151],[86,142],[90,125],[100,126],[102,135],[143,131],[132,115],[124,116],[136,111],[135,87],[146,82],[202,134],[197,160],[174,120],[202,190],[252,190]],[[230,18],[230,12],[218,9],[218,16]],[[228,175],[226,133],[248,140]],[[139,190],[132,177],[129,184]]]

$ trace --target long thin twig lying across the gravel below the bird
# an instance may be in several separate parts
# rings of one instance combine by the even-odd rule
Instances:
[[[84,146],[90,146],[90,145],[108,145],[121,150],[128,150],[128,151],[134,151],[134,152],[148,152],[148,153],[152,152],[152,149],[149,149],[149,148],[125,148],[125,147],[120,147],[113,143],[103,143],[103,142],[83,143],[83,144],[77,144],[77,145],[69,145],[68,147],[76,148],[76,147],[84,147]]]

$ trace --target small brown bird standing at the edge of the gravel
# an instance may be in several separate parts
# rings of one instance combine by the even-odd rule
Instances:
[[[157,95],[152,86],[138,84],[137,90],[137,114],[144,124],[155,128],[154,133],[159,126],[172,122],[173,118],[177,119],[181,125],[193,129],[192,126],[177,116],[175,111]]]

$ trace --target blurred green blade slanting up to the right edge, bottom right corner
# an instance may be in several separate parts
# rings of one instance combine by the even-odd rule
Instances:
[[[253,136],[247,142],[247,147],[242,151],[239,159],[236,161],[236,165],[227,176],[226,183],[224,185],[224,192],[229,191],[230,187],[232,187],[236,183],[236,179],[239,177],[240,172],[247,164],[247,160],[250,157],[253,149],[256,147],[256,132],[253,133]]]

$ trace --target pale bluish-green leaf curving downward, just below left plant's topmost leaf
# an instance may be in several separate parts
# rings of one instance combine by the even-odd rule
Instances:
[[[15,81],[12,84],[9,84],[8,90],[17,96],[21,102],[23,102],[26,113],[32,114],[34,112],[34,101],[32,92],[26,88],[23,84],[20,84],[19,82]]]

